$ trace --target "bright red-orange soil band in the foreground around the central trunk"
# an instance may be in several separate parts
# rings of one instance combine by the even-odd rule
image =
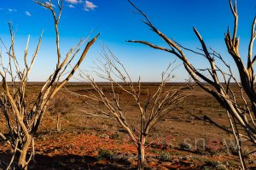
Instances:
[[[93,136],[82,132],[39,134],[36,139],[36,157],[31,169],[135,169],[137,149],[127,141],[109,139],[108,136]],[[0,157],[8,160],[11,150],[0,146]],[[99,157],[100,150],[109,150],[113,155]],[[154,150],[154,151],[153,151]],[[160,153],[170,154],[163,161]],[[148,169],[201,169],[207,163],[231,162],[236,156],[198,156],[193,152],[148,147],[146,149]],[[236,169],[236,167],[230,167]]]

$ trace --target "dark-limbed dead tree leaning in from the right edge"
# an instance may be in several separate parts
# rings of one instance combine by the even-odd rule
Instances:
[[[130,0],[128,0],[131,3]],[[219,104],[223,105],[227,111],[228,119],[230,120],[230,127],[232,133],[236,139],[236,144],[239,151],[239,157],[241,161],[241,167],[246,169],[246,163],[242,153],[242,143],[249,141],[253,148],[255,149],[256,145],[256,93],[254,90],[254,71],[253,65],[255,64],[256,55],[253,54],[253,42],[256,37],[255,25],[256,17],[253,19],[251,38],[248,44],[247,51],[247,65],[241,59],[241,54],[239,53],[239,38],[236,37],[238,29],[238,12],[236,2],[232,4],[230,2],[230,9],[234,16],[234,28],[232,33],[230,28],[225,33],[224,41],[226,43],[227,50],[236,63],[236,69],[239,71],[240,80],[236,79],[235,75],[232,72],[231,66],[227,63],[226,59],[223,58],[221,54],[208,48],[207,44],[201,37],[199,31],[194,29],[195,36],[198,41],[201,43],[201,49],[193,50],[190,48],[185,48],[180,43],[176,42],[174,39],[166,37],[166,35],[157,29],[153,23],[148,19],[148,16],[143,13],[143,11],[137,8],[133,3],[131,5],[136,9],[137,13],[143,17],[143,23],[146,24],[154,33],[156,33],[166,44],[168,48],[160,47],[154,45],[151,42],[145,41],[128,41],[128,42],[137,42],[147,45],[151,48],[156,48],[167,53],[174,54],[178,59],[183,62],[183,66],[186,71],[189,72],[190,77],[204,89],[208,94],[218,100]],[[199,57],[207,59],[209,67],[203,69],[197,69],[195,65],[189,62],[188,54],[193,53],[198,54]],[[222,65],[217,64],[216,60],[219,60]],[[204,73],[207,72],[208,76]],[[221,81],[223,80],[224,83]],[[207,82],[207,83],[204,83]],[[240,94],[235,94],[234,89],[231,87],[230,82],[236,82],[236,86],[240,88]],[[242,103],[239,103],[237,99],[242,99]],[[255,153],[256,150],[253,150],[251,153]],[[251,154],[249,153],[249,154]]]

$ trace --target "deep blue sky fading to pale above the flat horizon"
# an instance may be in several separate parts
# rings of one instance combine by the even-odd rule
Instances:
[[[137,7],[148,14],[156,27],[168,37],[186,47],[197,48],[192,27],[201,32],[208,46],[224,54],[231,62],[224,46],[224,32],[228,26],[233,26],[228,0],[133,0]],[[52,0],[56,4],[55,0]],[[239,28],[241,37],[241,54],[246,57],[251,24],[256,14],[255,0],[238,0]],[[145,82],[160,80],[160,73],[168,63],[175,58],[171,54],[157,51],[140,44],[125,42],[127,39],[147,40],[165,46],[165,43],[154,32],[149,31],[141,17],[131,12],[131,5],[125,0],[64,0],[61,16],[60,35],[61,52],[79,42],[81,37],[87,37],[101,32],[95,46],[90,49],[88,57],[81,68],[90,70],[102,46],[108,46],[124,63],[134,80],[138,76]],[[26,37],[31,35],[30,54],[34,51],[41,31],[44,29],[42,48],[33,67],[30,81],[44,81],[49,72],[55,68],[55,31],[49,10],[38,6],[32,0],[0,0],[0,37],[9,43],[8,21],[15,27],[16,51],[22,55],[26,46]],[[191,55],[189,59],[199,68],[205,66],[205,60]],[[177,65],[181,63],[177,62]],[[182,82],[188,78],[181,65],[175,72],[175,81]]]

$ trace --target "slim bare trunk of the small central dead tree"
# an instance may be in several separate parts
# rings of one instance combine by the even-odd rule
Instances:
[[[138,158],[137,158],[137,169],[143,170],[145,165],[145,141],[146,138],[143,136],[141,143],[137,146]]]

